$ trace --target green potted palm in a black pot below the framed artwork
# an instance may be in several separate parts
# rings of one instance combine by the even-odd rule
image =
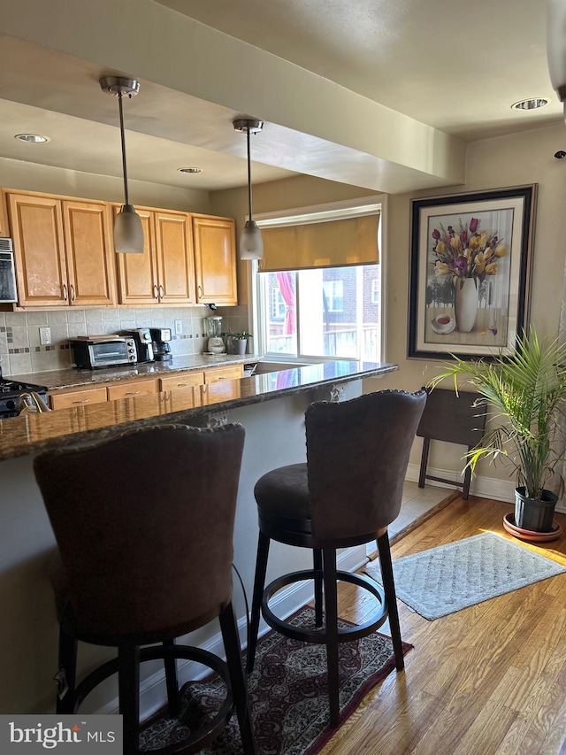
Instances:
[[[467,385],[488,405],[489,422],[478,445],[469,452],[471,471],[480,458],[509,463],[516,472],[515,526],[532,532],[551,532],[558,495],[555,474],[562,455],[562,426],[566,401],[566,347],[556,339],[541,339],[534,327],[517,339],[511,357],[486,362],[460,358],[445,366],[431,388],[452,377],[455,390]]]

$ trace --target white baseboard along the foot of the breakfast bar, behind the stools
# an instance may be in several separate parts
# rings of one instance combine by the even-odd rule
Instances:
[[[360,566],[366,564],[368,559],[365,553],[365,545],[357,545],[353,548],[347,548],[338,553],[337,566],[344,572],[355,572]],[[279,595],[274,597],[270,605],[273,611],[280,617],[285,618],[290,616],[295,611],[298,611],[306,603],[312,600],[312,589],[309,587],[308,582],[298,582],[296,585],[289,585],[289,587],[280,590]],[[261,621],[259,628],[259,636],[263,636],[269,627],[265,624],[264,620]],[[248,622],[247,617],[242,616],[238,621],[238,630],[240,632],[240,642],[242,648],[247,644],[247,630]],[[222,643],[222,635],[218,631],[203,643],[199,643],[199,646],[204,650],[210,651],[215,655],[224,658],[224,643]],[[195,664],[192,661],[180,660],[177,664],[177,674],[179,678],[180,686],[189,680],[202,679],[204,676],[210,674],[210,672],[199,664]],[[159,670],[155,674],[151,674],[147,679],[144,679],[140,683],[140,720],[146,720],[149,716],[157,713],[166,703],[167,691],[165,689],[165,676],[164,671]],[[111,714],[118,713],[118,697],[115,697],[106,705],[103,705],[96,713]]]

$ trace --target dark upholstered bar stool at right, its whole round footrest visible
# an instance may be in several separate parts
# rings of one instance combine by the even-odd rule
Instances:
[[[409,451],[426,392],[385,390],[342,404],[317,402],[305,414],[307,463],[282,466],[256,483],[259,515],[256,578],[252,599],[248,669],[253,670],[260,610],[281,634],[324,643],[330,723],[340,720],[339,643],[367,636],[389,617],[395,664],[404,667],[387,526],[401,508]],[[313,569],[280,576],[264,587],[270,542],[313,551]],[[336,549],[377,541],[383,589],[368,577],[337,571]],[[269,601],[279,589],[312,580],[316,628],[279,619]],[[363,625],[338,627],[337,580],[369,590],[379,610]],[[323,612],[324,594],[324,612]]]

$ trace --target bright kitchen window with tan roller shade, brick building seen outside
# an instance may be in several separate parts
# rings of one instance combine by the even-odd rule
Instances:
[[[379,212],[379,207],[373,212]],[[353,217],[356,209],[360,208],[352,208]],[[288,228],[288,236],[286,231],[278,237],[278,252],[285,255],[286,244],[291,246],[296,239],[294,218],[267,222],[270,227],[279,227],[278,221],[281,227]],[[262,227],[261,219],[258,225]],[[310,236],[309,243],[317,249],[316,238],[313,242]],[[256,270],[254,274],[255,327],[259,335],[256,345],[265,356],[284,361],[334,358],[381,361],[379,264]]]

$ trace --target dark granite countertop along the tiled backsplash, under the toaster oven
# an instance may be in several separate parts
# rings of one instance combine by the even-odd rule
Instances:
[[[163,377],[166,374],[182,370],[198,370],[226,365],[253,364],[262,357],[256,354],[195,354],[191,357],[173,357],[168,362],[149,362],[135,366],[111,367],[110,369],[85,370],[69,367],[65,370],[50,370],[49,372],[27,373],[19,375],[4,375],[9,380],[32,382],[44,385],[50,390],[65,388],[79,388],[81,385],[96,385],[99,382],[114,382],[134,380],[135,378]]]

